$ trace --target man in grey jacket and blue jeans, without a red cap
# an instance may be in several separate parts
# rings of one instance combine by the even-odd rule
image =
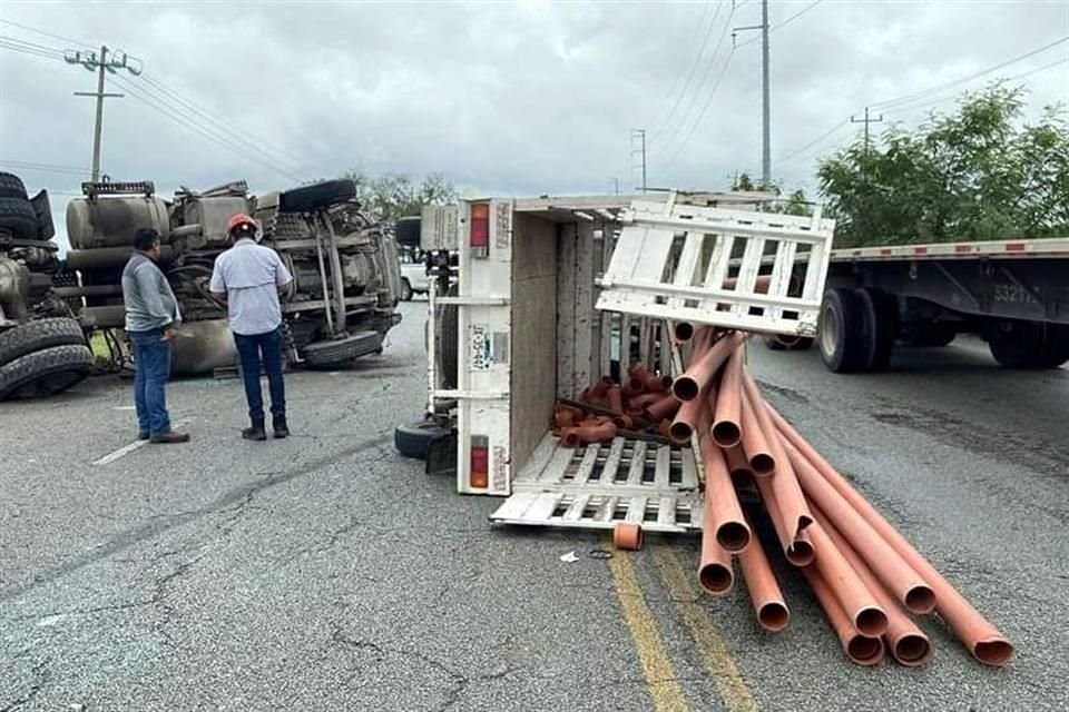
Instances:
[[[156,266],[159,255],[159,233],[140,229],[134,235],[134,254],[122,269],[126,330],[134,346],[137,437],[151,443],[185,443],[189,434],[170,429],[167,413],[170,343],[177,336],[182,315],[175,293]]]

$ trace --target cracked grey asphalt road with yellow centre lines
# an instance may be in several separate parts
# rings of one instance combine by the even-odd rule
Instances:
[[[288,377],[288,441],[239,439],[236,380],[171,385],[194,441],[134,436],[129,386],[0,405],[0,711],[1061,710],[1069,706],[1069,372],[982,345],[833,376],[753,349],[765,393],[1017,644],[861,669],[795,572],[791,627],[697,592],[693,540],[587,555],[500,531],[399,457],[423,400],[423,303],[381,357]],[[576,563],[560,555],[575,551]]]

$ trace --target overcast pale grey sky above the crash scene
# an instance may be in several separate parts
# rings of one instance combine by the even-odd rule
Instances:
[[[94,101],[71,92],[95,76],[32,50],[106,43],[144,62],[108,82],[127,95],[105,107],[116,180],[271,189],[360,168],[502,195],[606,192],[614,178],[626,191],[645,128],[650,186],[725,188],[761,169],[759,33],[734,51],[730,37],[761,22],[761,2],[734,4],[3,0],[0,161],[62,215],[91,156]],[[856,136],[847,119],[866,105],[921,93],[875,131],[999,77],[1028,86],[1032,115],[1069,102],[1066,41],[953,83],[1069,36],[1067,0],[772,0],[769,23],[773,177],[787,187],[812,191],[816,158]]]

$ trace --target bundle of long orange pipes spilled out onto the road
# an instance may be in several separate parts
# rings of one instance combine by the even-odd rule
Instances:
[[[737,333],[696,332],[671,389],[683,403],[669,434],[696,436],[705,471],[698,580],[727,593],[738,562],[758,623],[787,627],[790,611],[738,493],[756,490],[784,557],[798,567],[846,656],[860,665],[889,652],[903,665],[931,657],[913,616],[938,612],[982,663],[1013,645],[762,397]]]

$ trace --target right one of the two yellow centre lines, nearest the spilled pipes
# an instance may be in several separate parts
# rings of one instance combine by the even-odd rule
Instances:
[[[735,666],[730,651],[705,609],[698,603],[702,594],[694,586],[694,574],[688,575],[684,571],[679,558],[667,545],[654,546],[654,560],[660,568],[660,577],[668,593],[679,602],[684,622],[690,629],[690,636],[697,645],[702,663],[716,681],[720,699],[728,712],[756,711],[757,702]]]

